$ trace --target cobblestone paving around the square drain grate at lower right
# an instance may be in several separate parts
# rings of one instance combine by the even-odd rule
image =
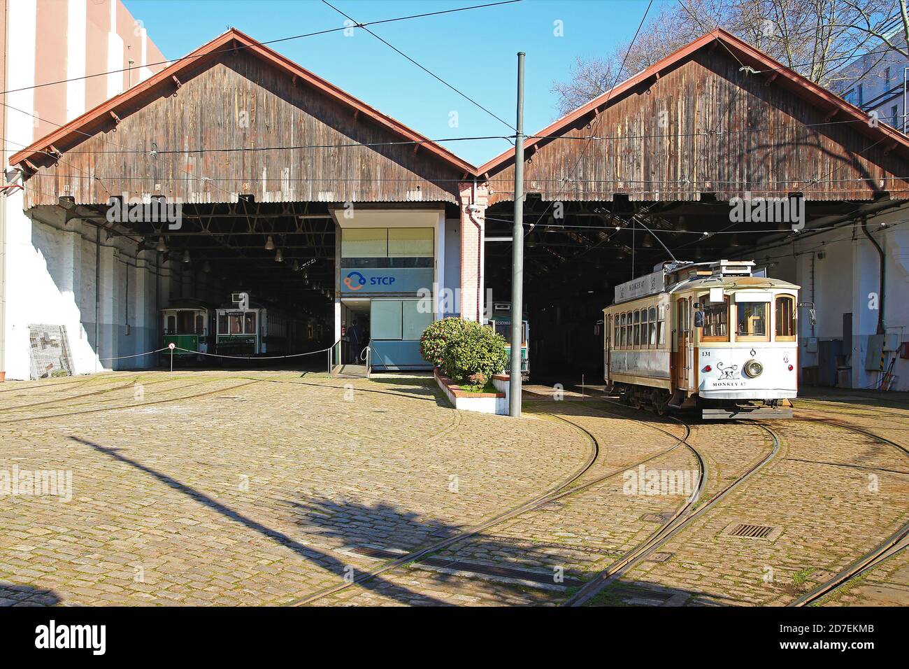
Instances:
[[[844,409],[837,420],[854,422],[845,414],[858,410]],[[782,605],[909,520],[909,458],[813,415],[768,423],[781,438],[774,461],[667,542],[661,550],[671,552],[671,559],[640,564],[615,587],[634,582],[684,593],[691,604]],[[695,427],[693,442],[704,442],[713,431]],[[774,530],[766,539],[731,536],[740,523]],[[598,601],[614,603],[608,592]]]

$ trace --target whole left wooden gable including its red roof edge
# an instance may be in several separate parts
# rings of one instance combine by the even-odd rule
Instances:
[[[445,147],[235,29],[10,163],[30,173],[27,206],[124,192],[186,202],[244,194],[455,202],[458,179],[474,175]]]

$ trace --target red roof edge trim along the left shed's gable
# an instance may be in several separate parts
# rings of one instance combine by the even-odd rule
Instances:
[[[203,46],[200,46],[192,53],[177,59],[176,62],[172,65],[166,66],[157,74],[148,77],[141,84],[137,84],[136,86],[125,90],[123,93],[105,100],[105,102],[102,102],[100,105],[89,109],[85,112],[85,114],[80,117],[76,117],[65,126],[58,127],[55,131],[49,133],[48,135],[45,135],[45,137],[41,137],[28,147],[17,151],[10,157],[10,165],[17,165],[24,162],[29,157],[35,156],[35,154],[44,153],[47,147],[60,143],[66,137],[78,134],[81,128],[89,125],[95,121],[95,119],[104,116],[108,112],[114,111],[117,107],[124,105],[125,103],[135,99],[138,96],[142,96],[152,88],[155,88],[155,86],[169,82],[172,76],[177,75],[187,67],[193,66],[195,62],[202,56],[214,55],[217,53],[217,49],[219,47],[228,45],[232,41],[239,42],[240,44],[246,46],[253,54],[255,54],[255,56],[262,57],[265,60],[274,63],[276,66],[283,67],[288,73],[292,75],[299,76],[309,85],[318,88],[328,96],[332,96],[345,105],[351,106],[355,110],[363,112],[365,115],[372,118],[380,125],[387,127],[398,135],[406,137],[410,141],[421,142],[419,146],[425,147],[428,150],[432,151],[435,153],[435,155],[441,157],[446,162],[450,163],[453,167],[467,172],[471,176],[474,176],[476,174],[476,167],[464,161],[464,159],[458,157],[447,148],[435,143],[428,137],[425,137],[415,130],[405,126],[395,118],[389,117],[388,115],[380,112],[378,109],[375,109],[375,107],[365,104],[365,102],[362,100],[350,95],[345,90],[342,90],[334,84],[331,84],[321,76],[315,75],[314,73],[305,69],[305,67],[297,65],[294,61],[286,58],[285,56],[281,56],[274,49],[259,44],[255,41],[255,39],[249,35],[245,35],[245,33],[237,30],[236,28],[231,28],[223,35],[218,35],[215,37],[215,39],[211,40]],[[65,154],[65,151],[63,151],[63,153]]]

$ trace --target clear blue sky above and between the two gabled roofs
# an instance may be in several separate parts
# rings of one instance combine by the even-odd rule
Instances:
[[[365,23],[489,0],[332,0]],[[344,24],[316,0],[124,0],[167,58],[185,56],[228,26],[265,41]],[[659,8],[659,0],[651,9]],[[554,120],[551,92],[576,56],[605,56],[634,35],[645,0],[524,0],[451,15],[370,26],[405,54],[514,125],[516,56],[527,54],[524,131]],[[564,36],[554,35],[561,21]],[[344,88],[426,137],[506,135],[513,131],[409,63],[364,30],[273,45],[276,51]],[[458,127],[449,127],[451,112]],[[444,143],[474,165],[494,157],[503,139]]]

